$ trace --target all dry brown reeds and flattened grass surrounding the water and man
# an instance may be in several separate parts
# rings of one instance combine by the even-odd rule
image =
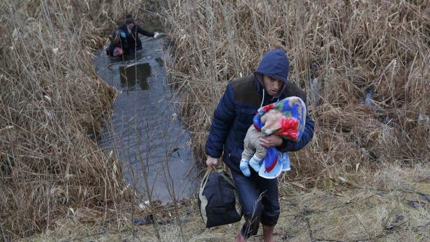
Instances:
[[[119,160],[89,138],[116,95],[92,52],[125,13],[165,24],[200,164],[226,84],[286,50],[316,133],[281,177],[277,241],[430,240],[430,1],[164,0],[158,15],[145,4],[0,1],[0,240],[234,237],[239,223],[205,229],[195,201],[181,220],[133,225]]]

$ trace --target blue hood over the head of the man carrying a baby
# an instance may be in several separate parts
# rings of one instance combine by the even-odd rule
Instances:
[[[274,96],[274,98],[279,98],[281,93],[283,93],[287,87],[289,72],[290,61],[288,61],[286,53],[281,49],[276,49],[270,50],[264,56],[262,56],[260,64],[258,64],[258,68],[255,70],[254,75],[262,87],[264,87],[262,75],[268,75],[283,82],[281,90],[279,90],[278,94]]]

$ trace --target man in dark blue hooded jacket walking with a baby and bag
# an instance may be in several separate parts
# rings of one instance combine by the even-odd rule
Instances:
[[[277,179],[265,179],[251,169],[244,176],[239,164],[244,151],[246,131],[260,107],[276,103],[283,98],[297,96],[306,103],[304,91],[288,82],[290,63],[283,50],[271,50],[260,61],[253,75],[230,82],[214,112],[214,119],[206,142],[207,166],[223,162],[230,168],[246,222],[235,241],[245,241],[263,225],[264,241],[273,241],[274,226],[279,218]],[[285,153],[302,149],[313,137],[313,120],[306,112],[301,139],[292,141],[272,134],[260,137],[260,145],[276,147]],[[260,199],[261,196],[261,199]]]

